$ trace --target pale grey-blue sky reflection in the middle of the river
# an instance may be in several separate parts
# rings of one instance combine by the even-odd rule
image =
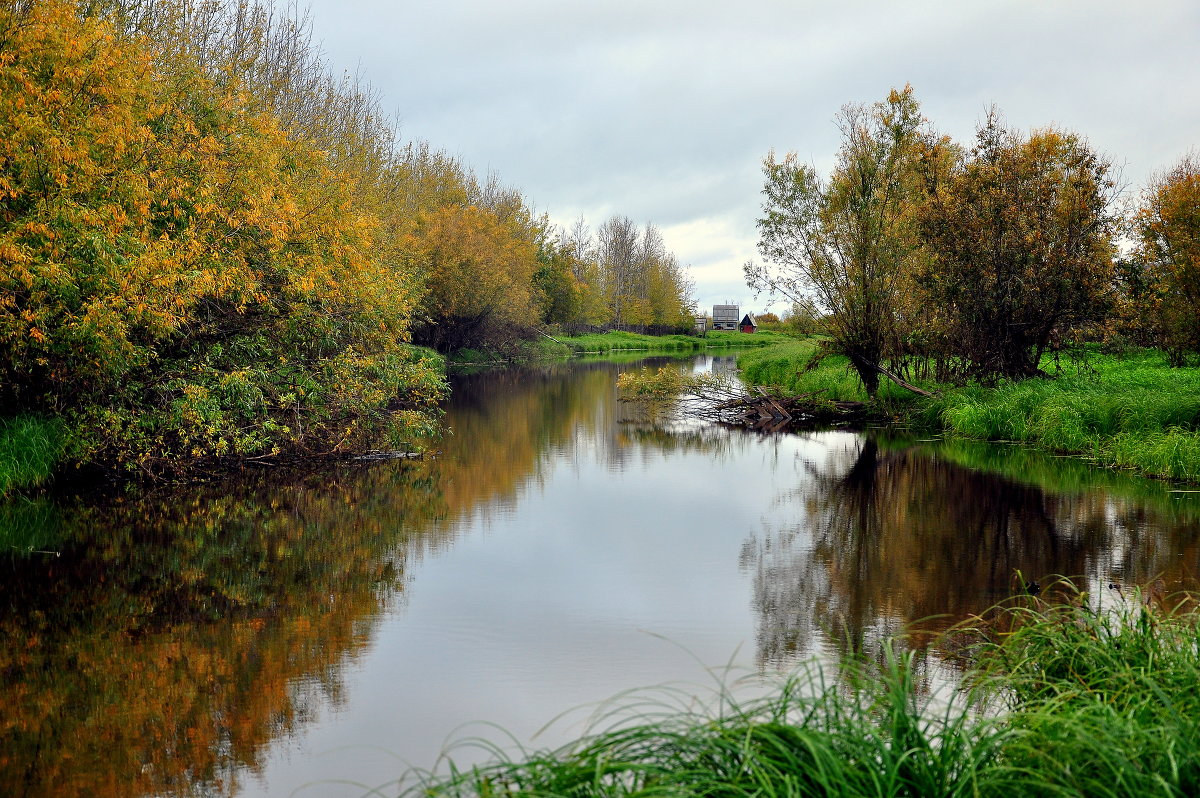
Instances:
[[[707,689],[702,666],[731,661],[744,673],[756,622],[743,546],[764,523],[797,521],[778,499],[824,444],[709,430],[667,452],[643,439],[576,431],[503,512],[457,522],[456,542],[415,569],[403,610],[378,629],[346,709],[292,756],[280,751],[263,794],[334,773],[380,784],[396,775],[391,754],[428,766],[463,724],[494,721],[528,740],[622,690]],[[565,742],[584,714],[534,744]],[[338,750],[352,739],[390,754]]]

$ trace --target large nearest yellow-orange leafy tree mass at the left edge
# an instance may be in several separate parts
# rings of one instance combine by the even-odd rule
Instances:
[[[377,175],[95,11],[0,7],[0,407],[151,472],[427,428]]]

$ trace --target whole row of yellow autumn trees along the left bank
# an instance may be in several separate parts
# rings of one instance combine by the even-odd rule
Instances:
[[[401,140],[269,1],[0,7],[0,433],[158,474],[410,444],[438,353],[690,325],[650,224]]]

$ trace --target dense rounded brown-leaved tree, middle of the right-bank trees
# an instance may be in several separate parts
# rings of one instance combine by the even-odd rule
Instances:
[[[1111,163],[1081,137],[1021,136],[989,114],[919,224],[925,288],[971,374],[1037,374],[1055,336],[1103,312],[1115,192]]]

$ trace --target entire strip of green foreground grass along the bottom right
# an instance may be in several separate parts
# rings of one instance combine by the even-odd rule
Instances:
[[[949,700],[888,649],[881,666],[834,683],[814,667],[757,701],[634,696],[574,744],[426,774],[407,794],[1198,794],[1196,617],[1140,596],[1028,601],[967,632],[974,664]]]

